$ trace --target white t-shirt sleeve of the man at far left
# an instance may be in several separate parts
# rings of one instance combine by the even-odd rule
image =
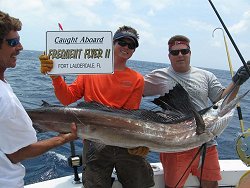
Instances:
[[[0,149],[11,154],[37,142],[32,121],[15,94],[0,95]]]

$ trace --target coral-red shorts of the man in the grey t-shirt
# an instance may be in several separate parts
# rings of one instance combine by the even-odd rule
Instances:
[[[161,153],[160,160],[164,170],[165,184],[168,187],[175,187],[183,176],[184,172],[194,159],[199,148],[178,152],[178,153]],[[178,187],[183,187],[189,174],[200,177],[201,169],[198,169],[200,155],[196,157],[192,165],[189,167]],[[205,163],[203,166],[202,180],[218,181],[221,180],[219,158],[216,146],[207,148]]]

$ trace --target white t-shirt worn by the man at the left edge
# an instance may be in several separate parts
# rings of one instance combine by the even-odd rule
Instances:
[[[5,154],[37,142],[32,121],[8,83],[0,80],[0,187],[24,186],[25,168]]]

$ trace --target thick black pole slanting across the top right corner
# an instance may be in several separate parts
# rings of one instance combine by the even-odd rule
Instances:
[[[229,33],[229,31],[228,31],[226,25],[224,24],[223,20],[221,19],[220,15],[219,15],[219,13],[217,12],[217,10],[216,10],[215,6],[213,5],[212,1],[211,1],[211,0],[208,0],[208,1],[209,1],[209,3],[211,4],[211,6],[212,6],[212,8],[213,8],[215,14],[217,15],[218,19],[220,20],[220,22],[221,22],[221,24],[222,24],[224,30],[225,30],[226,33],[227,33],[227,36],[229,37],[230,41],[232,42],[232,44],[233,44],[233,46],[234,46],[234,49],[236,50],[237,54],[239,55],[239,57],[240,57],[240,59],[241,59],[241,62],[243,63],[245,69],[247,70],[247,73],[248,73],[249,76],[250,76],[250,70],[249,70],[249,68],[248,68],[248,66],[247,66],[247,64],[246,64],[246,61],[244,60],[243,56],[241,55],[240,50],[238,49],[237,45],[235,44],[235,42],[234,42],[234,40],[233,40],[231,34]]]

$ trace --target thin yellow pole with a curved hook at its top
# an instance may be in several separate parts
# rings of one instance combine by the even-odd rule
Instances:
[[[218,30],[218,29],[220,29],[222,31],[222,33],[223,33],[223,39],[224,39],[224,44],[225,44],[226,53],[227,53],[227,61],[228,61],[228,65],[229,65],[229,70],[230,70],[230,73],[231,73],[231,77],[233,77],[234,76],[234,71],[233,71],[233,66],[232,66],[232,62],[231,62],[231,58],[230,58],[230,54],[229,54],[227,40],[226,40],[226,36],[225,36],[224,30],[221,27],[215,28],[213,30],[212,36],[214,37],[214,32],[216,30]],[[242,116],[242,112],[241,112],[241,107],[240,107],[239,103],[237,104],[237,112],[238,112],[238,117],[239,117],[239,121],[240,121],[241,132],[243,133],[245,131],[245,128],[244,128],[244,122],[243,122],[243,116]]]

